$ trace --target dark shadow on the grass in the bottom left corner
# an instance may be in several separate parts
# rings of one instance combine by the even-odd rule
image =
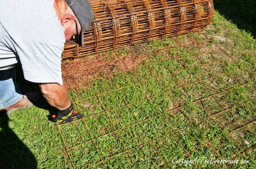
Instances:
[[[0,118],[0,168],[36,169],[33,153],[8,126],[9,118]]]

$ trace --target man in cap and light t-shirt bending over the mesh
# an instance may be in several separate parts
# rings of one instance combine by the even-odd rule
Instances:
[[[36,94],[23,95],[14,67],[38,83],[48,103],[58,109],[55,121],[70,122],[75,111],[62,82],[64,43],[83,47],[83,33],[93,18],[88,0],[0,0],[0,114],[31,107]]]

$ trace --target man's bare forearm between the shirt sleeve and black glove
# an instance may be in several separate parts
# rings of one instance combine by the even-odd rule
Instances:
[[[39,83],[39,86],[44,98],[46,98],[50,105],[59,110],[65,110],[71,105],[71,100],[68,97],[68,89],[65,85]]]

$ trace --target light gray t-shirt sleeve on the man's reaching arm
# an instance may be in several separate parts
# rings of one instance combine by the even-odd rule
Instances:
[[[63,46],[48,45],[30,39],[13,38],[24,78],[34,83],[62,85],[61,54]]]

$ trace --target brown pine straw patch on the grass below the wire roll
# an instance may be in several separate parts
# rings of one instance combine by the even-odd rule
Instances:
[[[128,55],[118,59],[107,59],[101,53],[62,63],[62,78],[68,88],[88,88],[92,79],[99,75],[111,77],[118,71],[133,70],[146,55]]]

